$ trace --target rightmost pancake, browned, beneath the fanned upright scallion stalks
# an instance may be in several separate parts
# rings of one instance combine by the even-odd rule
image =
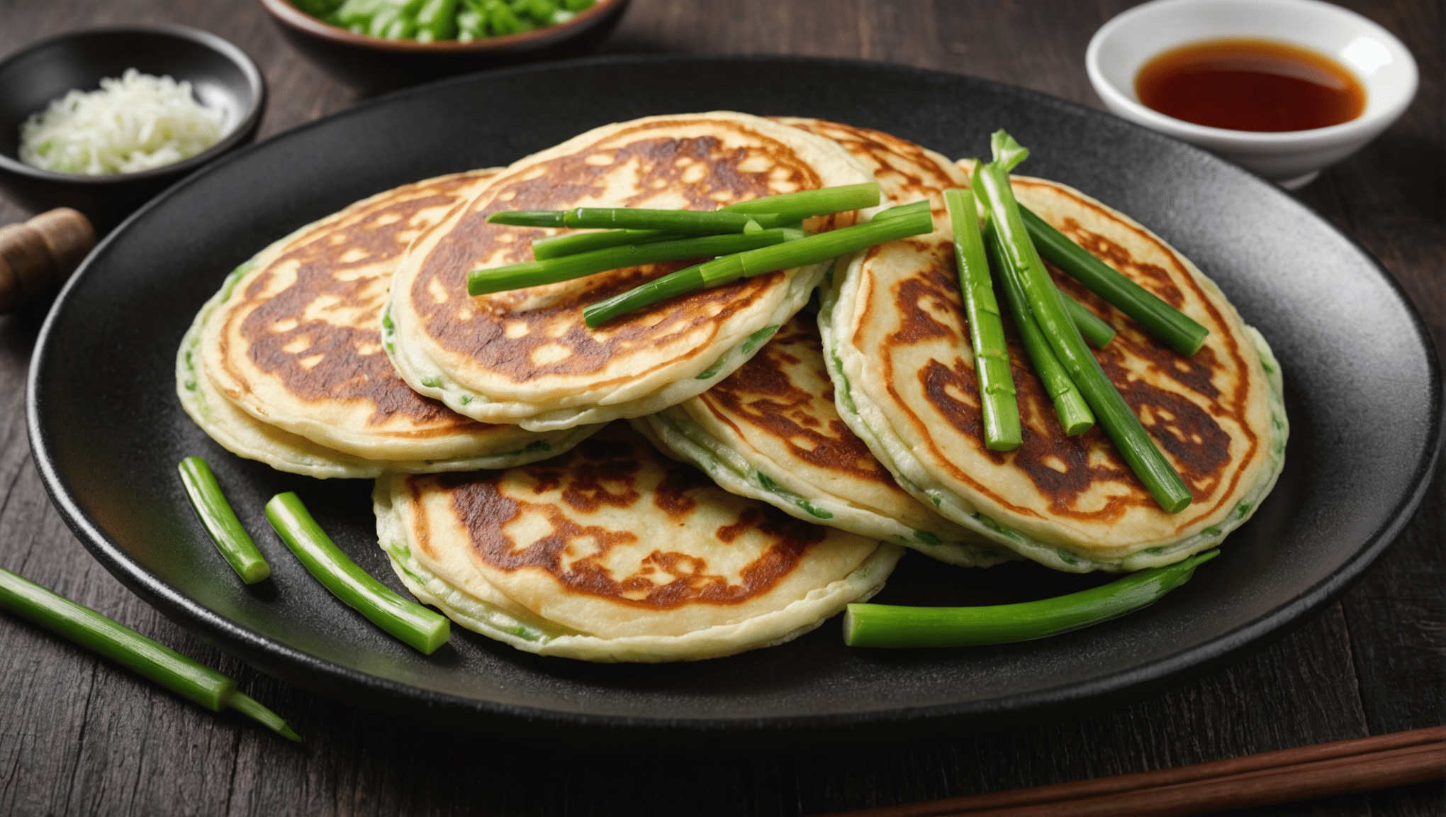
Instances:
[[[959,172],[940,166],[927,185],[957,184]],[[910,493],[1048,567],[1138,570],[1215,547],[1283,466],[1287,424],[1270,347],[1215,283],[1138,223],[1064,185],[1015,178],[1014,189],[1021,204],[1210,330],[1205,347],[1183,357],[1054,272],[1119,333],[1095,354],[1193,503],[1163,512],[1098,427],[1066,437],[1008,318],[1024,444],[985,448],[949,220],[933,189],[940,233],[857,253],[826,283],[820,328],[840,414]]]

